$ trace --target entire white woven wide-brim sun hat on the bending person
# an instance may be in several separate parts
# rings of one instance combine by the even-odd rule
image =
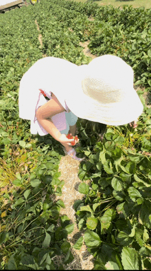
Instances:
[[[98,56],[70,76],[65,101],[79,118],[113,126],[128,124],[143,112],[133,80],[132,67],[121,58]]]

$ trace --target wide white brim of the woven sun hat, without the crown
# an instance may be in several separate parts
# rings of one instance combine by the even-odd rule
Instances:
[[[114,126],[128,124],[139,118],[143,112],[143,105],[133,85],[123,91],[124,96],[120,101],[108,103],[102,99],[100,102],[97,98],[84,94],[82,78],[86,76],[86,71],[87,65],[78,67],[76,76],[74,74],[69,81],[70,91],[65,101],[75,116]]]

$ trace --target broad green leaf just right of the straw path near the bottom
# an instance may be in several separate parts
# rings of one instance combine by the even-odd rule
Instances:
[[[84,242],[89,248],[95,248],[101,245],[102,241],[97,233],[86,230],[84,233]]]

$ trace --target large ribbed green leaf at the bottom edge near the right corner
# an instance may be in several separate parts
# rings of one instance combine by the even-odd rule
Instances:
[[[124,270],[140,270],[139,254],[134,248],[124,247],[121,252],[121,262]]]

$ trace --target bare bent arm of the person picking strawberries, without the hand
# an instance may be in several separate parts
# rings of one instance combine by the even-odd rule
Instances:
[[[50,118],[58,113],[62,113],[63,111],[65,111],[65,108],[62,107],[56,96],[53,96],[49,102],[46,102],[45,105],[42,105],[36,111],[38,122],[43,126],[45,131],[47,131],[57,141],[59,141],[62,134],[58,131]]]

